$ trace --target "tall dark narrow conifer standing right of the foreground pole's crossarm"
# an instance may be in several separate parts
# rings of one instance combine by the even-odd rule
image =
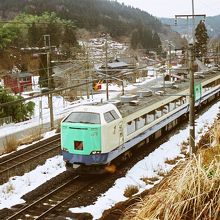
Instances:
[[[207,43],[209,39],[205,23],[202,20],[196,27],[195,37],[195,56],[201,60],[207,53]]]

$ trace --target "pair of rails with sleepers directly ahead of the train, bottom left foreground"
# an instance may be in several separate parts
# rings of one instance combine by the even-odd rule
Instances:
[[[71,180],[67,180],[61,186],[53,189],[51,192],[43,195],[41,198],[25,205],[22,208],[14,209],[13,215],[6,219],[52,219],[56,218],[56,212],[71,207],[71,200],[76,198],[80,193],[90,188],[97,180],[90,179],[83,181],[78,175]]]

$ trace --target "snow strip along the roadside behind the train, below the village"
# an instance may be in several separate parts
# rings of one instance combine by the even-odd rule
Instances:
[[[136,89],[139,85],[146,84],[155,77],[147,77],[142,78],[140,83],[136,83],[135,86],[128,84],[125,86],[125,92],[132,91]],[[36,84],[37,78],[34,78],[34,84]],[[34,87],[35,91],[39,91],[38,86]],[[90,95],[90,99],[86,97],[82,97],[82,99],[74,101],[74,102],[67,102],[64,101],[63,97],[61,96],[53,96],[53,109],[54,109],[54,119],[61,119],[65,115],[67,115],[73,108],[78,105],[89,104],[92,102],[100,102],[106,100],[105,95],[106,85],[102,84],[102,90],[99,94]],[[115,99],[121,93],[121,87],[116,84],[109,85],[109,99]],[[27,97],[27,93],[24,93],[24,97]],[[38,98],[34,98],[31,101],[35,103],[35,113],[32,119],[20,123],[11,123],[0,127],[0,138],[6,135],[13,134],[17,131],[21,131],[33,126],[40,126],[43,123],[49,123],[50,120],[50,110],[48,108],[48,97],[42,96]],[[42,103],[42,120],[39,119],[40,115],[40,102]]]

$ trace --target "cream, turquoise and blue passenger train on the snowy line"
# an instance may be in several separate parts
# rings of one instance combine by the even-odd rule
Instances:
[[[165,84],[165,83],[164,83]],[[195,108],[220,96],[219,71],[195,77]],[[75,107],[61,122],[61,153],[67,169],[79,173],[115,170],[115,161],[136,146],[174,128],[189,113],[189,79],[152,86],[120,100]]]

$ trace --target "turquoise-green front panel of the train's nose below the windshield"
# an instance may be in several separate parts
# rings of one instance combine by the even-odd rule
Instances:
[[[83,149],[74,149],[74,142],[82,141]],[[61,125],[61,145],[70,153],[90,155],[101,151],[101,126],[97,124],[67,123]]]

